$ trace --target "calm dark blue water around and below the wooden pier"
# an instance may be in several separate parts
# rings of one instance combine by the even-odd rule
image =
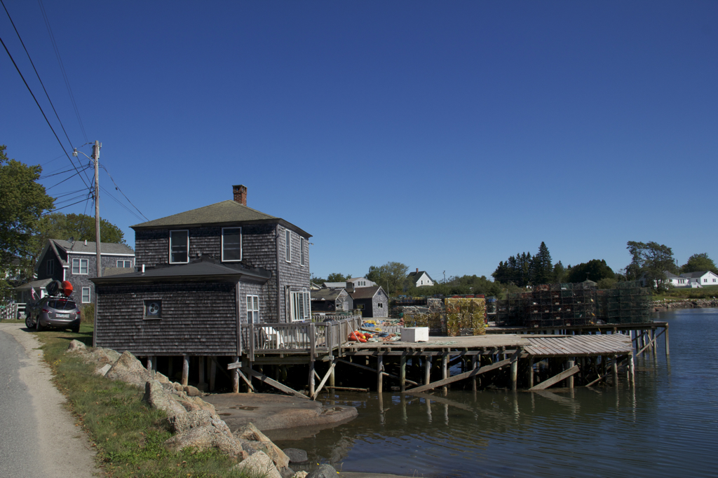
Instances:
[[[345,471],[418,477],[718,477],[718,309],[655,318],[669,322],[671,357],[661,337],[656,358],[637,359],[635,390],[343,394],[357,419],[277,444]]]

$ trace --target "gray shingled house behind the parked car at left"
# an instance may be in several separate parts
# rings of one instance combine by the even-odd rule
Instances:
[[[135,253],[126,244],[102,242],[100,244],[102,271],[109,268],[122,268],[134,271]],[[103,272],[104,274],[104,272]],[[16,288],[25,299],[29,299],[32,287],[37,297],[45,295],[39,289],[52,280],[67,280],[73,285],[75,302],[87,304],[95,300],[95,285],[92,279],[97,277],[97,247],[90,241],[65,241],[48,239],[35,264],[36,279],[32,283]],[[25,301],[27,302],[27,300]]]

